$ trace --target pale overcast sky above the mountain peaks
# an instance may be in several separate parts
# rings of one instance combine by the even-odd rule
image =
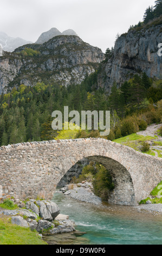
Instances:
[[[0,0],[0,31],[35,42],[52,27],[70,28],[105,52],[118,33],[142,21],[149,5],[154,0]]]

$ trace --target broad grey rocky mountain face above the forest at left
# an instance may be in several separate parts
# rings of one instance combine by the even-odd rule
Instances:
[[[38,56],[23,56],[25,47],[40,52]],[[28,44],[13,53],[0,57],[0,93],[8,87],[37,82],[60,83],[68,86],[81,83],[86,75],[95,71],[104,59],[98,47],[83,42],[78,36],[55,36],[42,45]]]

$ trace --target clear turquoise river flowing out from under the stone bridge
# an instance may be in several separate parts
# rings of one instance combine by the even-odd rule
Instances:
[[[50,244],[81,245],[161,245],[162,216],[139,213],[131,206],[94,206],[55,192],[53,201],[59,206],[61,214],[74,220],[76,229],[86,232],[53,235],[44,240]]]

